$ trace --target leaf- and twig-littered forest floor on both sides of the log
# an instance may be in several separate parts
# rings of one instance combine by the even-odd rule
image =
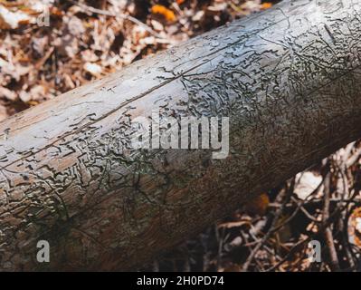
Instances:
[[[0,0],[0,121],[275,2]],[[139,270],[361,271],[360,157],[347,145]]]

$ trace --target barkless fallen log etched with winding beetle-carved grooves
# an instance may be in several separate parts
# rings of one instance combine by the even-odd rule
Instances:
[[[285,1],[1,122],[0,269],[134,268],[359,138],[360,4]],[[228,117],[228,154],[129,147],[153,110]]]

